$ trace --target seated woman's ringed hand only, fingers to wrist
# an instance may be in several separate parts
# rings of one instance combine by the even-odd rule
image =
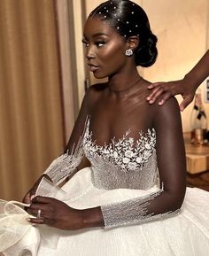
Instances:
[[[37,218],[30,218],[28,221],[35,224],[46,224],[48,226],[76,230],[83,229],[82,211],[71,208],[55,198],[36,197],[27,209],[27,213]]]

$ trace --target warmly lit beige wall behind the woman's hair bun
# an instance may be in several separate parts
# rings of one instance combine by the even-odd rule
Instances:
[[[87,15],[102,3],[101,0],[86,0]],[[208,0],[141,0],[147,12],[153,32],[158,36],[159,58],[154,66],[139,71],[150,81],[180,79],[190,71],[208,48]],[[207,45],[207,46],[206,46]],[[95,81],[91,78],[91,81]],[[202,85],[202,93],[204,86]],[[177,97],[182,100],[182,97]],[[184,131],[190,130],[191,104],[182,112]],[[209,104],[205,104],[209,117]]]

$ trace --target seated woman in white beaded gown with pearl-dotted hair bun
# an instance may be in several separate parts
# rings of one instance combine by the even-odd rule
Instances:
[[[136,70],[158,53],[145,12],[128,0],[107,1],[89,15],[83,43],[89,70],[108,82],[87,91],[66,153],[43,175],[54,184],[70,175],[63,193],[35,197],[44,194],[41,177],[24,198],[37,217],[28,221],[58,238],[53,249],[43,241],[37,255],[205,255],[209,194],[188,189],[184,200],[177,102],[148,105],[150,82]],[[81,168],[84,159],[90,167]]]

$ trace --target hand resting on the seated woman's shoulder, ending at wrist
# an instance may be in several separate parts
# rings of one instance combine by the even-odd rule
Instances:
[[[148,86],[148,89],[151,89],[151,94],[147,97],[150,104],[159,99],[159,105],[164,105],[170,97],[181,94],[183,98],[180,105],[181,111],[192,102],[196,90],[190,85],[190,81],[185,81],[185,79],[152,83]]]

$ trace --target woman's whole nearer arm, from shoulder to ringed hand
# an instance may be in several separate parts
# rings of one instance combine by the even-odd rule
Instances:
[[[148,197],[84,210],[71,208],[53,198],[37,197],[31,209],[33,213],[42,209],[43,219],[30,221],[67,230],[112,228],[142,224],[178,213],[186,189],[186,160],[177,101],[171,98],[162,107],[156,107],[153,116],[161,190]]]

